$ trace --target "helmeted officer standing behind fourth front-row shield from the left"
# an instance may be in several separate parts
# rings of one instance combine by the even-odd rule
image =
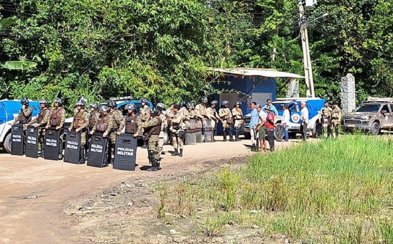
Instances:
[[[69,132],[81,132],[81,147],[79,150],[79,164],[84,164],[84,145],[86,144],[86,131],[89,124],[89,113],[84,109],[84,103],[77,101],[75,103],[77,112],[74,115],[72,126],[68,127]]]

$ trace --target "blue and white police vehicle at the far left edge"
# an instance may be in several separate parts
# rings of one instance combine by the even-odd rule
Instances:
[[[40,110],[37,101],[30,101],[29,106],[33,109],[32,118],[35,118]],[[20,100],[0,100],[0,147],[8,153],[11,152],[11,128],[12,123],[22,108]]]

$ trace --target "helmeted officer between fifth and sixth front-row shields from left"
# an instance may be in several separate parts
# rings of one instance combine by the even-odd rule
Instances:
[[[116,143],[116,135],[121,134],[121,130],[124,128],[123,113],[116,109],[116,103],[114,101],[108,101],[107,107],[109,108],[109,114],[113,118],[112,131],[110,139],[108,140],[108,164],[111,164],[112,151],[114,152],[114,146]],[[115,154],[113,153],[113,156]]]

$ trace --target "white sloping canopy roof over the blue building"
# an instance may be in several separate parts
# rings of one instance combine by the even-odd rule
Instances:
[[[293,73],[282,72],[274,69],[252,69],[252,68],[236,68],[236,69],[223,69],[223,68],[209,68],[211,71],[216,71],[224,74],[239,75],[239,76],[258,76],[258,77],[271,77],[271,78],[305,78]]]

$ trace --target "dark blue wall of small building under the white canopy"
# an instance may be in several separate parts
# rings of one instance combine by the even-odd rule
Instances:
[[[248,91],[251,90],[250,94],[247,94],[248,96],[251,96],[252,93],[272,93],[272,100],[274,101],[276,99],[276,92],[277,92],[277,82],[273,78],[267,78],[266,80],[262,79],[258,85],[256,83],[260,80],[260,77],[244,77],[244,78],[235,78],[233,76],[228,76],[226,78],[226,81],[229,81],[228,83],[219,83],[215,85],[215,88],[217,89],[227,89],[227,90],[237,90],[242,93],[247,93]],[[256,85],[254,89],[253,85]],[[244,94],[240,94],[239,97],[246,96]],[[219,106],[217,106],[217,111],[220,109],[221,102],[220,101],[220,95],[218,94],[213,94],[212,95],[214,100],[217,100],[219,102]],[[247,99],[246,99],[247,101]],[[240,107],[243,111],[243,114],[246,115],[247,113],[251,112],[251,108],[247,108],[247,102],[242,102],[242,106]],[[229,106],[230,109],[233,108],[233,104]],[[223,126],[222,123],[219,123],[217,126],[217,133],[221,134],[223,132]]]

